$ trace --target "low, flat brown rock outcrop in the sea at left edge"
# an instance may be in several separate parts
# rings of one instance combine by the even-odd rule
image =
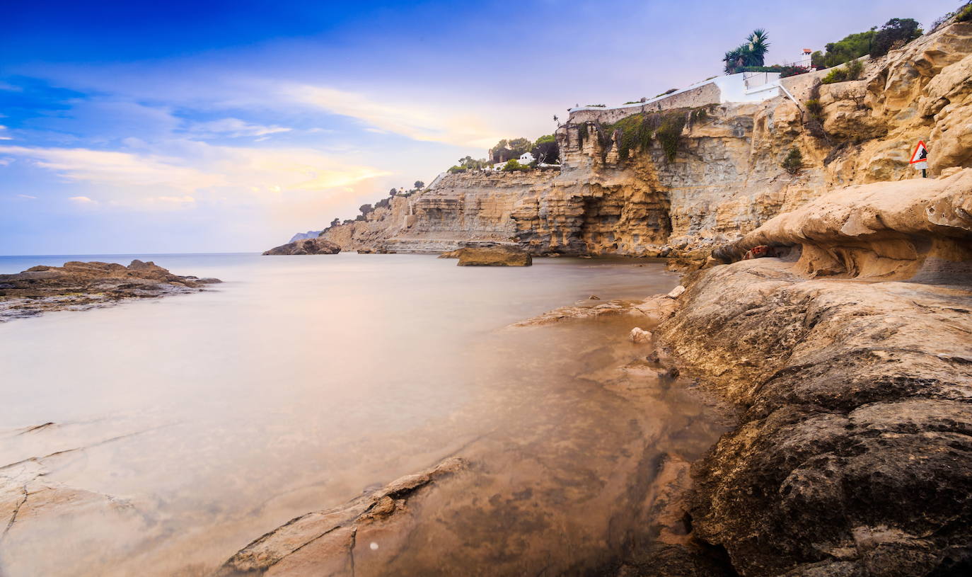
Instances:
[[[192,293],[217,282],[220,279],[180,276],[139,260],[127,267],[78,261],[63,267],[32,267],[0,274],[0,322],[52,310],[84,310],[125,299]]]

